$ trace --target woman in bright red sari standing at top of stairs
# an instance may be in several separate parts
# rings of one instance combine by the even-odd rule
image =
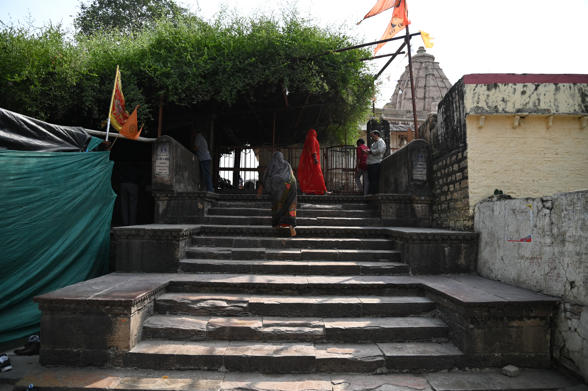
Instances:
[[[314,129],[310,129],[306,134],[304,148],[302,149],[302,154],[300,154],[298,183],[302,193],[331,194],[327,192],[323,171],[320,170],[319,141],[316,139],[316,130]]]

